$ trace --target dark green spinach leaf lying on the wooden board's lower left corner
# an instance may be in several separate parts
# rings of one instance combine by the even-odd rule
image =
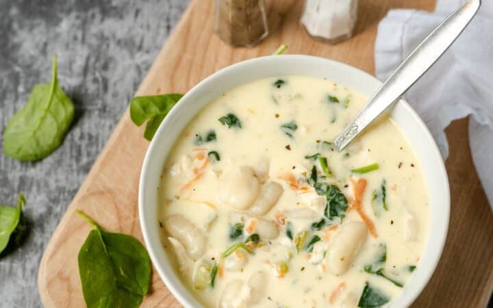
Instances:
[[[82,211],[77,214],[93,228],[77,256],[87,307],[139,307],[151,278],[144,246],[129,235],[104,231]]]

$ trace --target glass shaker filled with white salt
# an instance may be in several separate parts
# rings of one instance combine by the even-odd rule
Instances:
[[[305,0],[301,24],[308,34],[330,44],[351,38],[357,0]]]

